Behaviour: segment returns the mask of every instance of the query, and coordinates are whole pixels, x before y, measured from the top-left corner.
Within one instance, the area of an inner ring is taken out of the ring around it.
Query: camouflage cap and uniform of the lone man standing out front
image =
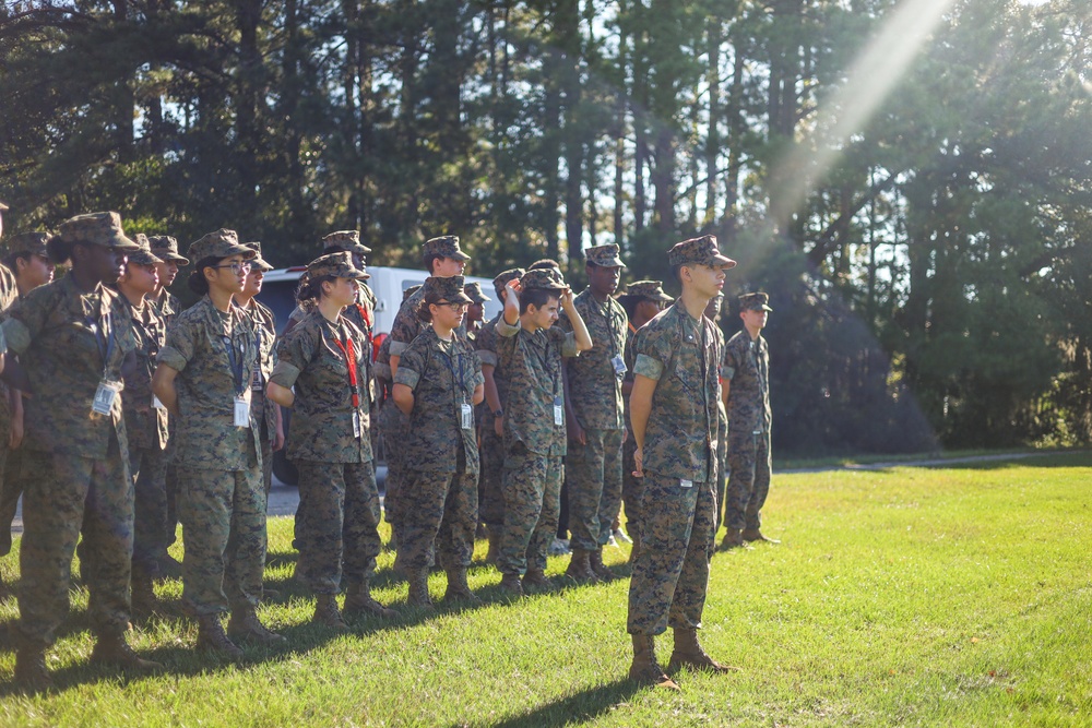
[[[698,254],[688,248],[695,242],[679,243],[682,254]],[[673,265],[679,262],[677,248]],[[656,389],[642,449],[641,548],[630,581],[627,630],[654,636],[668,624],[701,626],[716,517],[721,351],[713,323],[695,320],[681,301],[638,331],[633,350],[634,373],[654,380]]]

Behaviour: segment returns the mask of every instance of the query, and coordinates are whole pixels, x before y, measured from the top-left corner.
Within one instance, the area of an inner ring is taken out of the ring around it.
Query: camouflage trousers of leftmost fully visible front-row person
[[[69,608],[69,580],[83,534],[81,571],[97,634],[129,625],[129,569],[133,552],[133,481],[128,458],[111,435],[103,460],[67,453],[23,453],[23,545],[19,565],[19,640],[52,644]]]

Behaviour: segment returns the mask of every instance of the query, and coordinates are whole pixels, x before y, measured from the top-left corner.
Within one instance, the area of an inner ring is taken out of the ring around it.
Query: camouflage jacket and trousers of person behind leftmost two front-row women
[[[152,372],[167,324],[147,301],[139,308],[130,305],[130,314],[136,361],[126,372],[121,402],[129,435],[129,467],[135,480],[133,572],[153,576],[158,574],[159,560],[167,553],[167,410],[153,405],[152,394]]]

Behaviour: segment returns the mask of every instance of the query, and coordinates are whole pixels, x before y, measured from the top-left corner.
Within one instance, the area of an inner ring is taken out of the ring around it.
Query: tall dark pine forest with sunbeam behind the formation
[[[713,234],[725,331],[771,294],[776,451],[1087,444],[1090,38],[1087,0],[3,0],[0,199],[578,286]]]

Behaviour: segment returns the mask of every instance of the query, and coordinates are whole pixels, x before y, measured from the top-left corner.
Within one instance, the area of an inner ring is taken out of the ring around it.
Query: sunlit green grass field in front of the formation
[[[78,590],[49,657],[57,693],[15,692],[14,656],[0,654],[0,724],[1088,726],[1090,484],[1088,454],[775,476],[764,530],[783,542],[713,559],[702,640],[741,671],[685,672],[679,694],[625,679],[628,581],[510,605],[499,575],[476,568],[485,607],[426,614],[405,609],[383,554],[377,596],[402,617],[343,636],[311,626],[278,518],[266,576],[282,598],[261,614],[289,646],[222,664],[190,648],[191,623],[153,621],[133,642],[168,672],[126,682],[86,666]],[[558,583],[566,559],[550,563]],[[624,560],[608,549],[619,573]],[[13,577],[12,558],[0,569]],[[14,619],[13,604],[0,609]],[[658,647],[666,661],[669,636]]]

